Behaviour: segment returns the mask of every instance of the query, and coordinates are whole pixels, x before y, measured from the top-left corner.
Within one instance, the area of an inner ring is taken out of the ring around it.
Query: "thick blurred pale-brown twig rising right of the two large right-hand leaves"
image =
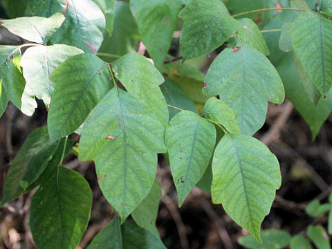
[[[286,124],[292,111],[293,111],[293,104],[290,101],[286,100],[286,104],[284,105],[284,111],[282,111],[282,113],[274,122],[273,126],[270,127],[268,132],[266,132],[264,136],[261,137],[261,142],[264,142],[265,145],[269,145],[270,142],[278,138],[280,130]]]

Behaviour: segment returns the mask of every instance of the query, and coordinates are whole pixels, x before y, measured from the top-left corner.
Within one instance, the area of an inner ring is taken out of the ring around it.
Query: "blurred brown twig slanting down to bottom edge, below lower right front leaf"
[[[218,230],[219,236],[221,237],[221,241],[223,241],[225,249],[232,249],[234,247],[232,244],[232,240],[230,239],[230,235],[228,234],[227,230],[223,227],[218,214],[216,214],[213,208],[211,208],[210,203],[208,203],[208,201],[206,201],[204,197],[201,198],[200,203],[203,210],[206,212],[206,214],[208,214],[211,221],[216,226],[216,230]]]

